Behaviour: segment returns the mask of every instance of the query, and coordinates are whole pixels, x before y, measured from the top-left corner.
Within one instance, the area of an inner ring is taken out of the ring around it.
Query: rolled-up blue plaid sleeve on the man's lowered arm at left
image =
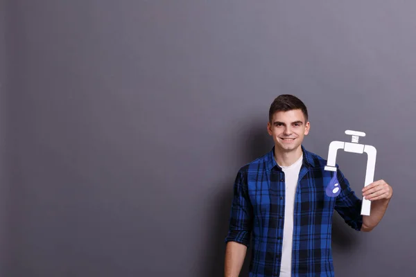
[[[252,231],[253,211],[248,195],[246,174],[247,172],[240,170],[234,181],[229,230],[225,242],[239,242],[248,247]]]

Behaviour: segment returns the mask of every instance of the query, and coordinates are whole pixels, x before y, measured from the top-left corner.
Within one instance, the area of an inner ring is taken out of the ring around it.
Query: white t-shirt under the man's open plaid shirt
[[[302,167],[303,154],[291,166],[280,166],[285,176],[286,202],[284,207],[283,248],[281,251],[280,276],[291,277],[292,270],[292,242],[293,242],[293,208],[297,179]]]

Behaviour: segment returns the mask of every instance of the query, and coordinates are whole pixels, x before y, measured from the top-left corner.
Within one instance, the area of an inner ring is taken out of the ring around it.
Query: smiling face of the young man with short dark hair
[[[277,111],[272,122],[267,123],[270,136],[275,141],[275,148],[283,152],[297,151],[302,145],[304,136],[309,133],[309,122],[305,122],[300,109]]]

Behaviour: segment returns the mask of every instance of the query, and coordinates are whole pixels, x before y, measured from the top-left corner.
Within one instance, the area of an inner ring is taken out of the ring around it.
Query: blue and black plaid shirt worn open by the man
[[[272,148],[265,156],[243,166],[234,182],[229,231],[225,242],[249,247],[252,235],[250,276],[279,276],[283,242],[284,172]],[[302,146],[303,163],[293,211],[292,276],[333,276],[331,229],[333,210],[349,226],[361,230],[361,199],[337,167],[340,194],[329,197],[325,188],[333,172],[327,161]]]

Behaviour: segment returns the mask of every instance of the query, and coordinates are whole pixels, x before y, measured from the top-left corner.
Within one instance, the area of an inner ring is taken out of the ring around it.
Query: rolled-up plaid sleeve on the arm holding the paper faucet
[[[363,215],[361,215],[361,204],[363,201],[356,197],[354,191],[349,187],[348,180],[338,169],[338,166],[337,179],[340,182],[341,193],[336,198],[335,210],[352,229],[360,231],[363,225]]]

